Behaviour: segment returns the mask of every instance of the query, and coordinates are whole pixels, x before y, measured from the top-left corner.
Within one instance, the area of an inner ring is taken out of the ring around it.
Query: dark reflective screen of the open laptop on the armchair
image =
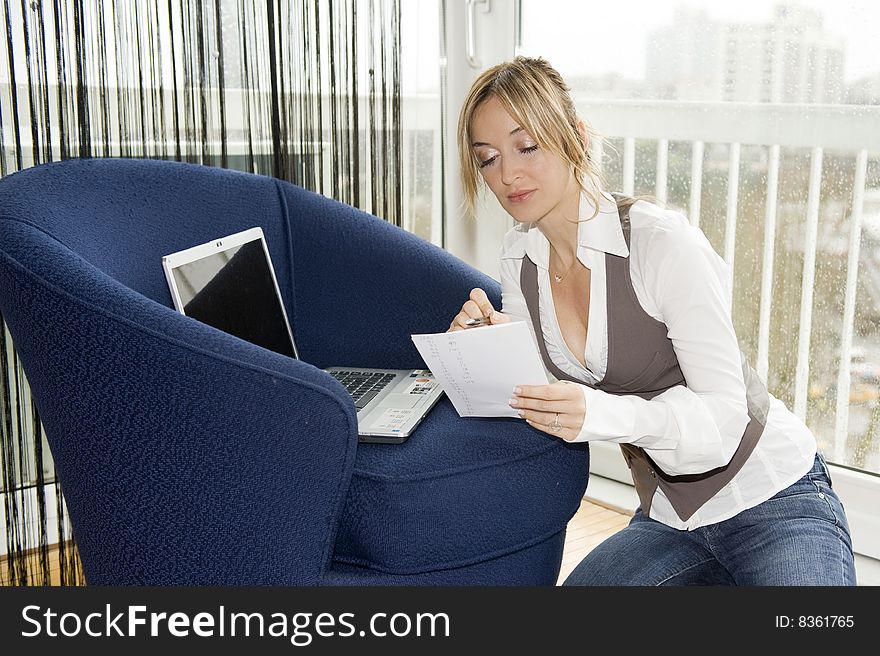
[[[185,315],[264,348],[297,357],[265,242],[227,238],[167,263]],[[207,246],[207,245],[206,245]]]

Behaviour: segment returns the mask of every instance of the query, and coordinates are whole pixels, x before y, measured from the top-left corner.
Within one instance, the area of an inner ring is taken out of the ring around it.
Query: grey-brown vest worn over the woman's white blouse
[[[615,198],[623,236],[629,248],[629,208],[634,200],[617,194]],[[634,394],[643,399],[652,399],[671,387],[686,385],[672,341],[667,336],[666,324],[645,312],[636,297],[630,278],[629,257],[606,253],[605,267],[608,362],[605,377],[593,387],[609,394]],[[528,255],[523,256],[520,287],[547,369],[559,380],[588,384],[569,376],[550,360],[538,310],[538,269]],[[644,449],[632,444],[620,445],[645,514],[650,511],[651,500],[659,486],[676,514],[686,521],[742,469],[764,431],[770,405],[766,387],[749,367],[744,355],[742,367],[749,423],[736,452],[726,465],[699,474],[671,476],[661,470]]]

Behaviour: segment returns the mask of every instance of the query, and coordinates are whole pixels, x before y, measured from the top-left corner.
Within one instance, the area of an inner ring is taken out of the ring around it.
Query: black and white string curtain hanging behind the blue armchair
[[[196,162],[401,225],[400,0],[2,0],[0,25],[0,175],[73,157]],[[83,584],[0,329],[0,582]]]

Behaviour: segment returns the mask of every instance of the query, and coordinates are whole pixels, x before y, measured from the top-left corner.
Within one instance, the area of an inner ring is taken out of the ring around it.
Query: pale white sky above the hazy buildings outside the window
[[[617,72],[644,79],[646,35],[672,24],[677,7],[704,9],[721,22],[767,23],[772,0],[523,0],[523,45],[563,75]],[[789,0],[823,15],[825,30],[847,41],[846,82],[880,72],[880,2]],[[620,35],[626,35],[621,42]]]

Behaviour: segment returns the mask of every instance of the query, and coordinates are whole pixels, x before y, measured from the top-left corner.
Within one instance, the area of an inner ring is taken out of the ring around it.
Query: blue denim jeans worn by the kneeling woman
[[[855,585],[843,505],[822,456],[803,478],[728,520],[682,531],[636,511],[564,585]]]

